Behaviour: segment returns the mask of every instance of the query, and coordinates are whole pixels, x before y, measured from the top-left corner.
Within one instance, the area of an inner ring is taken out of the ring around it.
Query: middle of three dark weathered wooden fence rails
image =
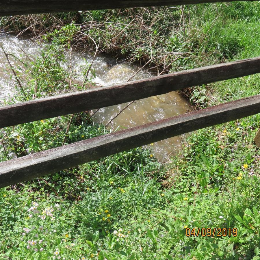
[[[260,73],[260,57],[0,107],[0,128],[73,114],[174,90]]]

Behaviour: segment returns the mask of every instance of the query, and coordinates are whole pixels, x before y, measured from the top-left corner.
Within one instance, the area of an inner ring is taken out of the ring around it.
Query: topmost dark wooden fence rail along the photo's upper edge
[[[0,16],[231,1],[232,0],[1,0]]]

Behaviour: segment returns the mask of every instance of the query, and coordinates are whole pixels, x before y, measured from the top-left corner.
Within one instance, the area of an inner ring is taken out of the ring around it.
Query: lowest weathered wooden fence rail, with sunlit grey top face
[[[0,188],[134,147],[260,113],[260,95],[0,163]]]

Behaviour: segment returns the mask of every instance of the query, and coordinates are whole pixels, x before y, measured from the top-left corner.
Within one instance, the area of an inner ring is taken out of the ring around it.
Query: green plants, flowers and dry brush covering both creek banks
[[[22,88],[17,81],[15,96],[5,102],[86,88],[89,64],[83,85],[61,66],[65,50],[83,40],[95,45],[82,38],[84,28],[95,42],[102,37],[101,49],[142,64],[156,57],[153,66],[166,73],[259,56],[259,12],[258,2],[234,2],[29,16],[35,36],[44,33],[49,44],[34,62],[15,68]],[[136,22],[140,18],[145,22]],[[27,19],[6,17],[1,25],[24,30]],[[87,27],[90,21],[95,27]],[[147,30],[143,37],[140,29]],[[259,82],[250,75],[185,93],[204,108],[259,94]],[[0,189],[0,258],[260,259],[260,152],[253,142],[259,126],[258,114],[201,129],[164,164],[135,148]],[[7,127],[0,132],[0,161],[107,132],[88,112]],[[194,227],[237,228],[237,236],[187,237]]]

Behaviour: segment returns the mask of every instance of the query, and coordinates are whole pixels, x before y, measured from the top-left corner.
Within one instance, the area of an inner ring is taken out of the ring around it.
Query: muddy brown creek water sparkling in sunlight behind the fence
[[[24,56],[23,51],[33,59],[40,53],[41,46],[30,39],[17,38],[10,34],[0,34],[0,44],[3,48],[12,53],[16,57]],[[23,50],[23,51],[22,51]],[[69,54],[66,54],[69,59]],[[9,56],[10,62],[16,66],[22,66],[22,63]],[[92,55],[89,53],[73,52],[71,55],[72,67],[78,72],[77,80],[83,81],[83,76],[80,76],[81,65],[86,64],[86,59],[89,63],[92,61]],[[66,64],[64,64],[66,67]],[[111,56],[97,55],[92,65],[96,77],[93,79],[98,86],[108,86],[115,83],[122,83],[133,75],[131,80],[144,79],[155,75],[133,64],[120,62]],[[140,70],[140,71],[139,71]],[[139,72],[138,72],[139,71]],[[138,73],[137,73],[138,72]],[[10,70],[6,57],[0,48],[0,101],[8,94],[12,95],[14,79],[10,79]],[[126,93],[127,94],[127,93]],[[93,121],[106,125],[118,112],[124,108],[127,103],[105,107],[93,116]],[[190,110],[190,105],[186,99],[178,94],[178,92],[170,92],[163,95],[153,96],[146,99],[135,101],[119,116],[117,116],[108,126],[111,131],[116,129],[125,129],[134,127],[149,122],[169,118],[172,116],[184,114]],[[169,138],[147,145],[151,149],[154,157],[163,161],[175,155],[181,149],[181,144],[185,142],[185,135]]]

